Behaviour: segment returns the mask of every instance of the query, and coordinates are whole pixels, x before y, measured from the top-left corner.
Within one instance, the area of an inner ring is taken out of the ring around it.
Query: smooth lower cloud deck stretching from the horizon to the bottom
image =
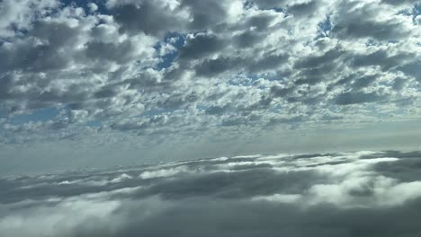
[[[0,233],[348,236],[421,233],[421,153],[221,157],[0,180]]]

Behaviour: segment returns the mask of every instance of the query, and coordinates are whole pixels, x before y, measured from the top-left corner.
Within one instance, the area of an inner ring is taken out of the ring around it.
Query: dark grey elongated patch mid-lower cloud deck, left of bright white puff
[[[187,175],[176,180],[164,180],[139,195],[160,194],[163,198],[210,197],[246,198],[258,195],[270,195],[280,191],[300,193],[318,180],[323,180],[311,171],[291,171],[286,174],[273,172],[271,169],[253,166],[250,170],[234,168],[236,172],[212,172],[210,174]],[[300,182],[295,182],[300,180]]]

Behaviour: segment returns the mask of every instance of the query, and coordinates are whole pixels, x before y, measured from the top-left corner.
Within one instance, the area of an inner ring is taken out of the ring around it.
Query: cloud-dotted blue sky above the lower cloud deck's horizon
[[[0,173],[421,148],[421,1],[3,0]]]

